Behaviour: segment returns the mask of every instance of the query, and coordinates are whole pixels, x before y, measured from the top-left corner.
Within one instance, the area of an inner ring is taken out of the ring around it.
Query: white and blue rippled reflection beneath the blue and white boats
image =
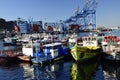
[[[20,64],[23,67],[24,78],[27,80],[55,80],[57,76],[59,76],[60,71],[63,70],[63,63],[56,63],[41,66],[39,64]]]

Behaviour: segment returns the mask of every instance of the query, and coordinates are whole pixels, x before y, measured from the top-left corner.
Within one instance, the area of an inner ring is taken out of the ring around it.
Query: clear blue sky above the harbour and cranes
[[[83,9],[86,0],[0,0],[0,18],[6,21],[18,17],[34,21],[57,22],[73,16],[76,8]],[[96,8],[98,27],[120,26],[120,0],[98,0]]]

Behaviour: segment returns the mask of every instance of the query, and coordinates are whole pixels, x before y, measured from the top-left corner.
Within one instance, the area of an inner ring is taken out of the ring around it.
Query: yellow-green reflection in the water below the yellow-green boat
[[[93,80],[98,67],[98,62],[90,64],[73,63],[71,67],[72,80]]]

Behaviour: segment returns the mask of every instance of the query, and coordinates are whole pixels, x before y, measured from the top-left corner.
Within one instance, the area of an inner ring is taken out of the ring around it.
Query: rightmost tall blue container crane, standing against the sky
[[[85,29],[96,29],[96,7],[98,0],[88,0],[83,9]]]

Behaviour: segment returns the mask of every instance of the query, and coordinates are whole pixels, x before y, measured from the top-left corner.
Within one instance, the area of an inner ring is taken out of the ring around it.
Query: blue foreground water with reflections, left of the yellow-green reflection
[[[39,65],[19,63],[0,66],[0,80],[70,80],[71,62]]]

